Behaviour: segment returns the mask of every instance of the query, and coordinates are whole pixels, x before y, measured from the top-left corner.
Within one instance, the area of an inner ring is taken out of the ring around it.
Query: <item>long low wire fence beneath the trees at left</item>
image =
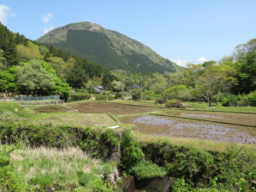
[[[58,101],[60,96],[20,96],[9,97],[9,102],[49,102]],[[0,98],[0,102],[7,102],[5,97]]]

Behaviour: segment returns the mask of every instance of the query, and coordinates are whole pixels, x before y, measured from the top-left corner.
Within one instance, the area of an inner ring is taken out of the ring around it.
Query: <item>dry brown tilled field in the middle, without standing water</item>
[[[129,106],[110,102],[77,102],[68,104],[68,108],[74,108],[79,112],[85,113],[112,113],[112,114],[129,114],[129,113],[146,113],[161,110],[161,108],[148,108],[141,106]]]

